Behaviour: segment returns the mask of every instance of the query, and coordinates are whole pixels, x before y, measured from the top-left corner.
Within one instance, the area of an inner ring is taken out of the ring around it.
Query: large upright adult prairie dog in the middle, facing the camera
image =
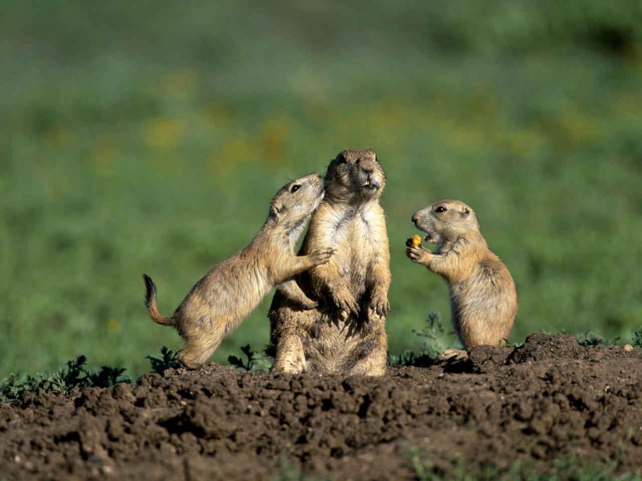
[[[318,307],[304,310],[275,294],[268,314],[275,371],[385,373],[390,249],[379,205],[384,186],[373,151],[343,151],[329,165],[325,198],[301,252],[330,248],[334,255],[295,277]]]

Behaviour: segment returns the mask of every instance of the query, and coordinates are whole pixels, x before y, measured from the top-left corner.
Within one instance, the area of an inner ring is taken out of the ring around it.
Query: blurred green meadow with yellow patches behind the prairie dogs
[[[639,1],[0,3],[0,378],[148,369],[169,315],[286,181],[376,150],[390,351],[445,283],[415,210],[477,212],[520,298],[511,335],[642,326]],[[213,359],[268,340],[271,295]],[[454,342],[453,339],[451,341]]]

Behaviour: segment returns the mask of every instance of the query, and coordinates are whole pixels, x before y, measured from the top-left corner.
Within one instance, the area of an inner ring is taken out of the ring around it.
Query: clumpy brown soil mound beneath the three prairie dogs
[[[642,459],[642,351],[534,334],[459,366],[381,378],[168,369],[73,399],[0,408],[0,479],[266,480],[284,462],[341,480],[413,479],[437,466]]]

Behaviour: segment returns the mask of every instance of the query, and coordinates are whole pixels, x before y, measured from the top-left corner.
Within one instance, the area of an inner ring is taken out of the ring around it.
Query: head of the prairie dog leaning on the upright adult
[[[280,227],[280,231],[299,237],[306,221],[324,197],[321,174],[309,174],[286,183],[272,198],[269,217]]]

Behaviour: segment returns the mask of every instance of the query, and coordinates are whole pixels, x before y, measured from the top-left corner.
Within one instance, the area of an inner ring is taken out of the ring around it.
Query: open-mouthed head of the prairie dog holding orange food
[[[417,210],[412,221],[419,230],[426,232],[426,242],[444,244],[457,237],[471,234],[480,235],[477,217],[470,207],[456,200],[433,202]]]

